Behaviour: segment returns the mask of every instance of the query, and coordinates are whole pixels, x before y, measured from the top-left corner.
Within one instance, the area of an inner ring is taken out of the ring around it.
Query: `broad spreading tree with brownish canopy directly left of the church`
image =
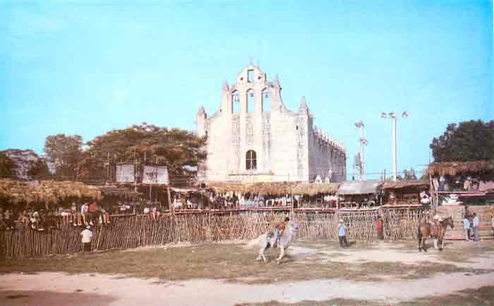
[[[188,174],[193,172],[188,167],[205,159],[204,144],[203,137],[187,130],[143,123],[90,140],[82,164],[88,173],[101,173],[107,162],[133,163],[136,158],[140,163],[167,166],[171,174]]]

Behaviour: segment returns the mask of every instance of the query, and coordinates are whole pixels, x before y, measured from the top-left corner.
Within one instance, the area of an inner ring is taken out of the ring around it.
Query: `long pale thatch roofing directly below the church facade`
[[[299,183],[299,182],[210,182],[208,188],[217,193],[225,192],[253,192],[260,195],[317,195],[318,193],[335,192],[336,183]]]

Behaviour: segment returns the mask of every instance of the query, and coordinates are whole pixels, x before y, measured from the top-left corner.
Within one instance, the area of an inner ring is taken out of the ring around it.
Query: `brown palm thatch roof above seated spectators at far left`
[[[4,198],[8,202],[54,204],[71,197],[88,197],[100,200],[101,192],[94,186],[71,181],[21,181],[8,178],[0,180],[0,198]]]

